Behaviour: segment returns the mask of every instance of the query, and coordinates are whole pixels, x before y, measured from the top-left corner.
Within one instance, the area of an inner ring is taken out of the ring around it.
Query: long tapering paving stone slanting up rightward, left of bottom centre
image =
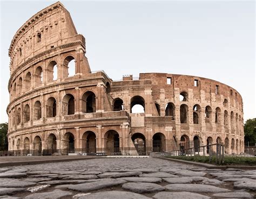
[[[68,189],[76,190],[76,191],[93,191],[93,190],[117,186],[125,182],[126,181],[124,180],[106,179],[98,182],[87,182],[82,184],[70,185]]]

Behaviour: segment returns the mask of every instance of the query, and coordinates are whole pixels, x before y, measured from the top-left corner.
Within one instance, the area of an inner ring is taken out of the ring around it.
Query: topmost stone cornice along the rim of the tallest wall
[[[17,39],[20,35],[22,35],[23,32],[26,31],[26,29],[28,29],[30,27],[31,24],[35,23],[37,20],[41,19],[41,17],[43,15],[45,15],[46,13],[57,9],[57,8],[64,8],[64,5],[60,2],[56,2],[48,7],[46,7],[45,9],[39,11],[36,13],[36,15],[33,15],[29,20],[26,21],[26,23],[24,23],[21,28],[19,28],[19,30],[15,33],[14,38],[12,38],[10,47],[9,47],[9,57],[11,57],[12,54],[12,50],[13,47],[15,46],[15,43],[17,42]]]

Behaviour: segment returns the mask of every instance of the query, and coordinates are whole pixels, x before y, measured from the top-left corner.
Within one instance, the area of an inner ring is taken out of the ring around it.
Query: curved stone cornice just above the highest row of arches
[[[11,86],[11,81],[12,79],[14,78],[15,74],[18,72],[18,70],[21,70],[22,67],[24,67],[25,65],[31,63],[32,61],[38,59],[39,57],[42,57],[42,56],[45,56],[45,54],[49,54],[51,52],[54,52],[54,51],[57,51],[57,50],[60,50],[60,49],[65,49],[67,47],[72,47],[72,46],[76,46],[76,45],[82,45],[85,49],[85,45],[83,44],[83,42],[81,42],[80,40],[79,41],[76,41],[76,42],[71,42],[71,43],[67,43],[67,44],[63,44],[63,45],[60,45],[60,46],[57,46],[57,47],[53,47],[52,49],[49,49],[49,50],[46,50],[44,52],[41,52],[39,54],[36,54],[36,56],[32,57],[31,59],[28,59],[26,61],[24,61],[24,63],[22,63],[21,65],[19,65],[14,71],[12,71],[11,73],[11,77],[9,79],[9,83],[8,83],[8,90],[10,92],[10,86]]]

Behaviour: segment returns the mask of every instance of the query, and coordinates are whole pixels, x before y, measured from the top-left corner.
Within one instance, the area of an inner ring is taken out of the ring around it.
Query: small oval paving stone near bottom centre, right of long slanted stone
[[[123,184],[122,188],[138,194],[153,193],[165,190],[165,188],[159,184],[147,182],[128,182]]]

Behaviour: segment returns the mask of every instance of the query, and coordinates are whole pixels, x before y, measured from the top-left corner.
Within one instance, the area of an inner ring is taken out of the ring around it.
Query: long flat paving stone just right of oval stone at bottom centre
[[[169,191],[192,191],[192,192],[205,192],[205,193],[221,193],[228,192],[230,190],[214,187],[207,184],[168,184],[165,188]]]

